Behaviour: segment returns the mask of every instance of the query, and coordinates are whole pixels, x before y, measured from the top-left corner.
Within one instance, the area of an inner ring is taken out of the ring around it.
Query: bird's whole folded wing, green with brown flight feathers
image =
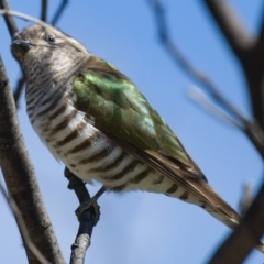
[[[91,56],[73,84],[75,107],[113,142],[226,216],[237,218],[207,184],[178,138],[124,75]]]

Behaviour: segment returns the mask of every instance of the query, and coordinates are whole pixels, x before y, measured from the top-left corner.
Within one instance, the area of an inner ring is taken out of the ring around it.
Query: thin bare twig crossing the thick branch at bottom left
[[[20,212],[14,199],[12,198],[12,196],[7,195],[1,180],[0,180],[0,193],[2,194],[2,197],[4,198],[4,200],[7,201],[7,204],[9,205],[9,209],[11,210],[11,212],[13,213],[13,216],[16,219],[20,232],[22,234],[23,238],[23,242],[25,243],[26,248],[32,252],[32,254],[34,254],[34,256],[36,257],[36,260],[42,263],[42,264],[50,264],[50,262],[46,260],[46,257],[40,252],[40,250],[34,245],[34,243],[31,241],[26,226],[24,223],[24,219],[22,213]]]

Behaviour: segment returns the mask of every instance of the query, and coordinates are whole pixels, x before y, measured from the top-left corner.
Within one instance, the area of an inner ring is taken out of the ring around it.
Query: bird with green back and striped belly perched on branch
[[[52,26],[15,33],[30,122],[55,158],[84,182],[194,204],[231,229],[240,222],[165,120],[114,66]],[[264,252],[262,242],[257,249]]]

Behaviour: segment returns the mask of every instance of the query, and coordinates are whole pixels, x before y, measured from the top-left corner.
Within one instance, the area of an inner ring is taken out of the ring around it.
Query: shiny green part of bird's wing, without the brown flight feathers
[[[76,107],[95,119],[95,125],[141,150],[158,152],[194,168],[177,136],[140,90],[106,62],[90,57],[74,79]]]

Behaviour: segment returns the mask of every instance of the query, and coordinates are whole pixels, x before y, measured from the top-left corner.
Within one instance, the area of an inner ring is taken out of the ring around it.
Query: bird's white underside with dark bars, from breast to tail
[[[141,189],[176,197],[200,206],[220,221],[232,226],[229,218],[205,200],[112,143],[88,122],[84,112],[72,106],[67,91],[59,99],[48,101],[44,98],[43,101],[46,102],[37,109],[30,103],[28,106],[32,125],[53,155],[81,179],[88,183],[98,180],[114,191]],[[235,224],[233,222],[233,227]]]

